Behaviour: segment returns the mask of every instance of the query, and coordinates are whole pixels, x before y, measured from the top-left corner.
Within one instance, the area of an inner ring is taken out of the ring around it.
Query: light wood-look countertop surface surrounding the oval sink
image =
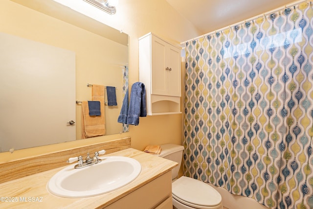
[[[63,198],[49,193],[46,185],[63,167],[0,184],[1,209],[95,209],[106,207],[137,188],[168,172],[178,163],[128,148],[107,156],[125,156],[141,164],[140,175],[129,185],[109,193],[86,198]],[[66,161],[67,159],[65,159]],[[72,163],[74,166],[75,163]],[[99,174],[101,177],[101,173]],[[82,181],[84,181],[82,179]]]

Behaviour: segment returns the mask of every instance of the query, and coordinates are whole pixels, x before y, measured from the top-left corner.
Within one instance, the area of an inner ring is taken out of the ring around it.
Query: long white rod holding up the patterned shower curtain
[[[269,14],[271,14],[271,13],[277,12],[277,11],[282,10],[282,9],[285,9],[285,8],[287,8],[287,7],[294,6],[294,5],[298,4],[298,3],[302,3],[302,2],[305,2],[305,1],[307,1],[308,3],[309,3],[309,2],[312,2],[312,0],[297,0],[297,1],[294,1],[294,2],[292,2],[292,3],[285,4],[285,6],[278,7],[278,8],[276,8],[276,9],[273,9],[273,10],[270,10],[270,11],[265,12],[265,13],[263,13],[263,14],[254,16],[254,17],[249,18],[249,19],[246,19],[246,20],[241,21],[241,22],[239,22],[239,23],[230,24],[230,25],[228,25],[228,26],[225,26],[225,27],[220,28],[220,29],[218,29],[218,30],[211,31],[211,32],[209,32],[209,33],[203,34],[203,35],[198,36],[198,37],[196,37],[196,38],[189,39],[189,40],[184,41],[184,42],[180,42],[180,45],[184,45],[186,42],[194,41],[194,40],[200,39],[200,38],[202,38],[202,37],[204,37],[204,36],[211,35],[211,34],[213,34],[213,33],[222,31],[222,30],[224,30],[224,29],[226,29],[226,28],[229,28],[229,27],[232,27],[232,26],[236,26],[236,25],[238,25],[238,24],[246,23],[246,22],[255,20],[255,19],[257,19],[257,18],[260,18],[260,17],[264,17],[264,16],[269,15]]]

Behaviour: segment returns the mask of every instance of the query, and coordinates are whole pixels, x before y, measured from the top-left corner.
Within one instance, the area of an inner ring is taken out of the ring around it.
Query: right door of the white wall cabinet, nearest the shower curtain
[[[180,51],[178,48],[169,45],[166,53],[166,67],[168,74],[168,91],[169,96],[181,96],[181,74],[180,74]]]

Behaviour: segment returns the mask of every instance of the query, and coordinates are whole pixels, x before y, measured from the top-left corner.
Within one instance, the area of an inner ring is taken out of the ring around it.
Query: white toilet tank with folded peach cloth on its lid
[[[184,147],[177,144],[162,144],[159,157],[178,163],[178,166],[172,169],[172,180],[177,178]]]

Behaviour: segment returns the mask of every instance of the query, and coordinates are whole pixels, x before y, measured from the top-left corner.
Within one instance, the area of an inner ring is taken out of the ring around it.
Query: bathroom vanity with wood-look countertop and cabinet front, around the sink
[[[65,166],[58,167],[0,184],[0,208],[172,208],[171,170],[178,163],[133,148],[117,151],[107,156],[133,158],[141,164],[141,173],[130,184],[109,193],[86,198],[63,198],[49,193],[46,188],[51,177]],[[99,178],[101,178],[101,173],[99,173]],[[84,181],[84,179],[81,181]]]

